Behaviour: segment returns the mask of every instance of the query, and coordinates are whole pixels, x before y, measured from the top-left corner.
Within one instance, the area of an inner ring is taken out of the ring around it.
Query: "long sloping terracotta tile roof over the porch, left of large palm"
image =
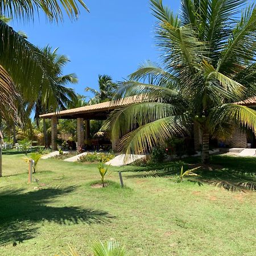
[[[106,101],[99,104],[82,106],[80,108],[75,109],[67,109],[62,110],[60,112],[53,112],[40,115],[41,118],[51,118],[51,117],[60,117],[65,115],[73,115],[73,114],[82,114],[82,113],[90,113],[90,112],[103,112],[108,110],[113,110],[120,106],[130,105],[132,103],[142,102],[142,96],[130,96],[126,98],[122,98],[120,100],[115,101]]]

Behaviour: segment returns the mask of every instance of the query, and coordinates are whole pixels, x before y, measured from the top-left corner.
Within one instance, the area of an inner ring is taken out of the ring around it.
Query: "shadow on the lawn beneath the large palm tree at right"
[[[143,177],[174,177],[180,174],[181,166],[184,171],[201,166],[199,158],[188,158],[183,161],[135,168],[136,174],[127,175],[127,178]],[[196,171],[200,176],[189,177],[188,181],[202,185],[213,184],[229,191],[250,189],[256,190],[255,180],[256,158],[237,158],[232,156],[212,156],[210,164],[202,166]]]

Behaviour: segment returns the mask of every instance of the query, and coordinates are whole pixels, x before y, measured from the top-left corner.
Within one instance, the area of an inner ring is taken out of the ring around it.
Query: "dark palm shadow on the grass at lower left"
[[[60,225],[109,222],[108,212],[80,207],[51,207],[53,199],[72,192],[74,187],[47,188],[23,193],[23,189],[0,193],[0,245],[22,242],[34,238],[38,222],[55,222]]]

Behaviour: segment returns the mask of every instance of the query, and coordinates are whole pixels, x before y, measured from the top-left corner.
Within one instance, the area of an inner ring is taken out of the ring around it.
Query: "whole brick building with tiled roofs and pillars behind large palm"
[[[81,108],[63,110],[58,113],[43,114],[40,115],[40,117],[51,118],[53,150],[57,149],[57,122],[59,118],[77,120],[77,144],[82,146],[84,145],[85,140],[89,139],[90,119],[104,120],[108,118],[108,115],[113,110],[125,105],[133,104],[135,102],[141,102],[142,100],[142,97],[132,96],[123,98],[121,100],[108,101],[100,104],[83,106]],[[237,102],[236,104],[255,107],[256,97]],[[195,150],[200,150],[202,137],[199,126],[195,125],[193,130]],[[117,150],[119,145],[119,134],[115,134],[113,138],[111,138],[111,142],[113,150]],[[246,148],[248,143],[250,143],[252,147],[256,147],[255,135],[252,134],[249,138],[248,132],[239,129],[238,127],[234,129],[232,136],[227,139],[225,143],[228,144],[229,147]]]

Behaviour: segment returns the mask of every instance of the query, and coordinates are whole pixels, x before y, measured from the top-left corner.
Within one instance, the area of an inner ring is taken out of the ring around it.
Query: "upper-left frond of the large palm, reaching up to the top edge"
[[[191,24],[180,26],[180,23],[173,22],[177,18],[170,18],[172,14],[163,7],[162,1],[151,1],[151,5],[158,18],[156,42],[164,52],[162,57],[167,69],[176,69],[177,72],[188,69],[194,73],[196,63],[207,54],[206,44],[200,42]]]

